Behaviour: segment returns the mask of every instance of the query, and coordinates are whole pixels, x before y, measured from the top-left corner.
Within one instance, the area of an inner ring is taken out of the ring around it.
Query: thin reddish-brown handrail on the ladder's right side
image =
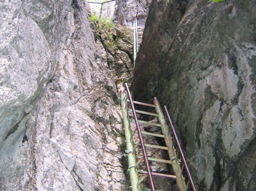
[[[175,142],[176,142],[176,144],[177,144],[178,150],[179,150],[180,155],[181,155],[181,160],[182,160],[182,162],[183,162],[184,168],[185,168],[186,173],[187,173],[187,175],[188,175],[189,184],[191,185],[192,190],[193,190],[193,191],[196,191],[196,187],[195,187],[195,185],[194,185],[192,176],[191,176],[191,174],[190,174],[190,172],[189,172],[188,164],[187,164],[187,162],[186,162],[186,159],[185,159],[185,157],[184,157],[183,151],[182,151],[182,149],[181,149],[180,142],[179,142],[179,140],[178,140],[178,136],[177,136],[177,134],[176,134],[175,128],[173,127],[173,123],[171,122],[171,117],[170,117],[170,114],[169,114],[169,112],[168,112],[168,110],[167,110],[167,106],[164,106],[164,108],[165,108],[165,113],[167,114],[168,122],[169,122],[170,125],[171,125],[171,131],[173,132],[173,136],[174,136],[174,138],[175,138]]]

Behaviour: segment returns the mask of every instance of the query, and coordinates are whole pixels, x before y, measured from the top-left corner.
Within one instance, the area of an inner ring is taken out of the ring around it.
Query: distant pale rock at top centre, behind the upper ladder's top
[[[114,21],[120,25],[133,26],[137,17],[138,25],[145,25],[151,3],[152,0],[116,0]]]

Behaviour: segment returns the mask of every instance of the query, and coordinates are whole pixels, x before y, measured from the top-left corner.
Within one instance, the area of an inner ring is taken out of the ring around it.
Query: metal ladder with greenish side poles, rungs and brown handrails
[[[141,103],[138,101],[133,101],[131,98],[131,93],[128,88],[128,85],[125,83],[125,90],[120,92],[121,97],[121,106],[122,106],[122,114],[123,114],[123,126],[125,129],[125,139],[126,139],[126,157],[128,158],[128,172],[130,174],[130,190],[132,191],[155,191],[155,185],[153,181],[153,176],[160,176],[170,179],[175,179],[178,189],[180,191],[192,190],[196,191],[196,187],[194,182],[192,181],[191,174],[188,169],[188,165],[184,158],[183,151],[181,150],[180,142],[178,141],[178,137],[176,136],[175,129],[170,119],[170,115],[167,111],[167,107],[165,106],[165,114],[167,116],[168,123],[170,124],[170,128],[167,125],[166,119],[163,115],[162,109],[160,107],[159,101],[157,98],[154,98],[154,104],[147,104]],[[130,106],[128,106],[130,103]],[[147,111],[139,111],[136,110],[134,104],[139,104],[142,106],[154,107],[156,113],[147,112]],[[129,112],[133,112],[133,117],[130,117]],[[144,114],[144,115],[152,115],[158,117],[159,123],[151,123],[146,122],[143,120],[138,120],[137,114]],[[136,125],[136,129],[131,129],[131,121],[134,121]],[[141,131],[139,127],[139,123],[146,123],[147,125],[154,125],[162,130],[162,134],[157,133],[149,133],[147,131]],[[171,132],[172,136],[171,137]],[[139,142],[133,141],[134,133],[138,133]],[[166,147],[164,146],[157,146],[152,144],[145,144],[142,138],[142,134],[146,136],[155,136],[158,138],[163,138],[165,140]],[[176,145],[174,144],[176,143]],[[143,155],[136,155],[135,150],[138,146],[141,146],[142,154]],[[155,149],[163,149],[168,151],[169,160],[165,160],[163,158],[152,158],[147,156],[146,147],[152,147]],[[178,149],[178,154],[176,153],[176,149]],[[180,157],[180,158],[179,158]],[[139,170],[139,164],[144,161],[146,166],[146,171]],[[172,174],[163,174],[163,173],[154,173],[151,171],[149,161],[159,162],[159,163],[168,163],[171,165],[173,169]],[[182,163],[182,165],[181,165]],[[186,172],[183,176],[183,172]],[[143,174],[143,176],[139,179],[139,174]],[[141,183],[148,177],[149,184],[151,189],[141,187]],[[184,178],[186,177],[186,178]],[[187,182],[187,183],[186,183]]]

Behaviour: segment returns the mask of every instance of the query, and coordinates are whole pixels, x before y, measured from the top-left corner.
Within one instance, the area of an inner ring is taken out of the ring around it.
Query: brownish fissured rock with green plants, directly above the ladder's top
[[[94,29],[94,38],[100,45],[97,50],[113,72],[118,87],[122,87],[123,82],[131,83],[134,69],[133,30],[101,20],[92,21],[91,27]],[[139,42],[141,39],[142,31],[138,36]]]

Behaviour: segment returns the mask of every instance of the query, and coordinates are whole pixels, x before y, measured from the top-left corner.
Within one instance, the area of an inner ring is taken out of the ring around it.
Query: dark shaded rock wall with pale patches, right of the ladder
[[[255,1],[154,1],[134,99],[166,104],[198,190],[256,189]]]

